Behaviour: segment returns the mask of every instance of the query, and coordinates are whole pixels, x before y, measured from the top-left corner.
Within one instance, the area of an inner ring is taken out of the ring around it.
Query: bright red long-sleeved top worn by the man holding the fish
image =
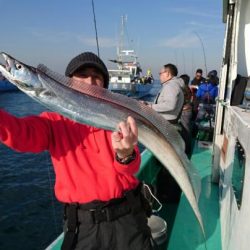
[[[0,140],[20,152],[48,150],[61,202],[85,203],[119,198],[135,188],[140,153],[128,165],[114,159],[111,131],[74,122],[53,112],[16,118],[0,110]]]

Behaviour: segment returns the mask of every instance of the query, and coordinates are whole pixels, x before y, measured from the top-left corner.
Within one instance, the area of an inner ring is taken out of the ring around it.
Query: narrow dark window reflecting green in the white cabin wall
[[[245,176],[246,155],[240,142],[236,140],[232,173],[232,186],[238,209],[241,207],[243,184]]]

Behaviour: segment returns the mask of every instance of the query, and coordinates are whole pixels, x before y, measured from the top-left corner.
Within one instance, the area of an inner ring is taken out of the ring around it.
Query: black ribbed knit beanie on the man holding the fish
[[[72,77],[73,74],[82,68],[93,67],[98,69],[104,78],[104,88],[108,88],[109,85],[109,73],[104,62],[92,52],[84,52],[74,57],[68,64],[65,75]]]

